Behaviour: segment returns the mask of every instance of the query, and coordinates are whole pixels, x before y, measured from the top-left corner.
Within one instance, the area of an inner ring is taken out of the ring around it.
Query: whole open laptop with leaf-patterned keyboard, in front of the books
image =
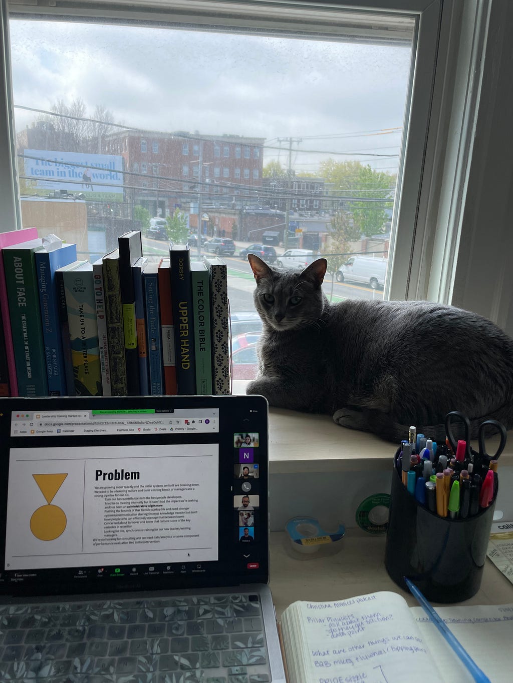
[[[0,444],[1,681],[285,681],[264,398],[2,398]]]

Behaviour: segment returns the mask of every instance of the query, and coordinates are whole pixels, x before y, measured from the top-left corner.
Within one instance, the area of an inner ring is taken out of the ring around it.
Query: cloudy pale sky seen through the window
[[[409,47],[29,20],[10,40],[15,106],[81,98],[131,127],[263,137],[264,164],[286,167],[292,137],[297,172],[326,158],[397,171]],[[37,117],[15,111],[18,130]]]

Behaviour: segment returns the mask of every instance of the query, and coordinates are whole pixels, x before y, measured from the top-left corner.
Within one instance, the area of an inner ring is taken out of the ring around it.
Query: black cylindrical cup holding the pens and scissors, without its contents
[[[475,516],[450,519],[430,512],[402,484],[395,454],[386,530],[385,567],[405,591],[404,576],[432,602],[461,602],[479,590],[495,499]]]

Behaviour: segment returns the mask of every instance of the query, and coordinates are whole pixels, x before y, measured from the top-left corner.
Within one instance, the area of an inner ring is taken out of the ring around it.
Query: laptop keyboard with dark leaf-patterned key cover
[[[0,605],[0,680],[267,683],[252,594]]]

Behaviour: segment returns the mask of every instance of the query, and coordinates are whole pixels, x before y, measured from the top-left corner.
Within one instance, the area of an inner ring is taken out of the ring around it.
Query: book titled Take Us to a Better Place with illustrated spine
[[[92,265],[64,271],[62,275],[68,307],[75,394],[102,395]]]

